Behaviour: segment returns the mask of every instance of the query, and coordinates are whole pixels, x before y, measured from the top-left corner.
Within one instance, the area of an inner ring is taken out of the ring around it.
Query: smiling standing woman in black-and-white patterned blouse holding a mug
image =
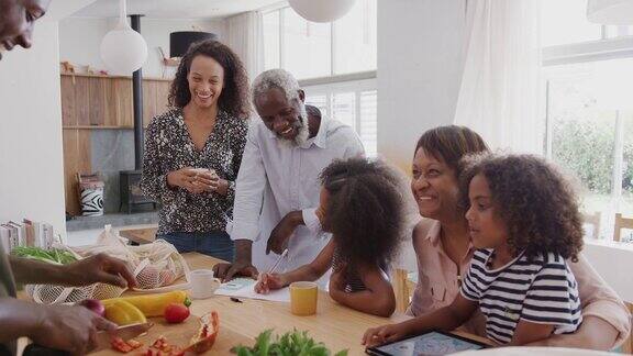
[[[160,202],[157,237],[179,252],[233,260],[225,232],[248,130],[248,79],[216,41],[193,44],[171,82],[173,108],[152,120],[143,192]]]

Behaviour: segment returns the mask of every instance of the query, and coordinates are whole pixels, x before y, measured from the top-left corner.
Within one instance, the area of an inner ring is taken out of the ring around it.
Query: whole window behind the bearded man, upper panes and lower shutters
[[[333,23],[313,23],[285,7],[264,13],[265,68],[300,80],[306,102],[356,130],[377,155],[377,0],[358,0]]]

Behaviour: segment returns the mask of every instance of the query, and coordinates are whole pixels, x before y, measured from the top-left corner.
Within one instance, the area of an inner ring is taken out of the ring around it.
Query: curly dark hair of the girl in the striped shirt
[[[578,260],[582,220],[570,181],[552,164],[532,155],[482,154],[464,159],[463,203],[468,186],[481,174],[490,187],[495,211],[508,226],[508,244],[528,258],[555,253]]]

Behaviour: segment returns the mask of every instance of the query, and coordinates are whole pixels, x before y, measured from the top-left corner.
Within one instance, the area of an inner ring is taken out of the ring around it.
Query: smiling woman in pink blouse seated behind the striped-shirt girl
[[[419,280],[409,313],[422,315],[451,304],[459,291],[462,276],[470,266],[474,247],[468,223],[459,207],[459,160],[488,151],[484,140],[460,126],[442,126],[425,132],[415,146],[411,190],[423,218],[413,231]],[[574,334],[553,335],[541,346],[610,349],[631,329],[630,314],[615,292],[580,256],[568,262],[578,281],[584,321]],[[485,336],[484,316],[476,312],[464,325]],[[366,343],[398,340],[408,334],[407,322],[367,331]]]

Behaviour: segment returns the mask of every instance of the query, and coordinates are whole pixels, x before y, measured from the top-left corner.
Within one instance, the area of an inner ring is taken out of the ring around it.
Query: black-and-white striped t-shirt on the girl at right
[[[462,283],[462,296],[479,303],[488,337],[507,344],[520,320],[554,325],[555,334],[576,331],[582,315],[574,274],[556,254],[531,260],[523,253],[506,266],[488,269],[492,249],[478,249]]]

